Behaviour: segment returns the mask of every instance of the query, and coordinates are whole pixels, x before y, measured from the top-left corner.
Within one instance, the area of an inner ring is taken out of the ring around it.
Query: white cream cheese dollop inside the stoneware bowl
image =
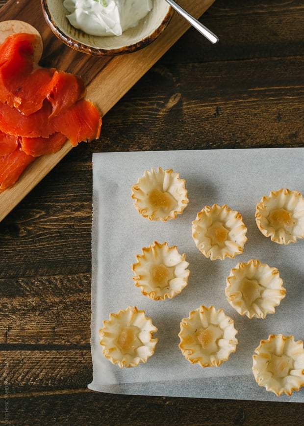
[[[70,24],[94,36],[121,35],[152,10],[152,0],[64,0]]]

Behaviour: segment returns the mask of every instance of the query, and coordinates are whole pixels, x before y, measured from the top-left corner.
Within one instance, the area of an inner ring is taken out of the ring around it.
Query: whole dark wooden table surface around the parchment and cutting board
[[[301,424],[297,403],[87,389],[92,153],[304,146],[303,1],[216,0],[202,21],[217,45],[187,31],[105,115],[101,139],[0,222],[1,424]]]

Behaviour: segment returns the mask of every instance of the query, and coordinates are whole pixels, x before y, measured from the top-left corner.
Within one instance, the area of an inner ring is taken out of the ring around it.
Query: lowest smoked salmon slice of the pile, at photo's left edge
[[[0,192],[13,186],[25,168],[35,157],[25,154],[18,147],[12,153],[0,157]]]

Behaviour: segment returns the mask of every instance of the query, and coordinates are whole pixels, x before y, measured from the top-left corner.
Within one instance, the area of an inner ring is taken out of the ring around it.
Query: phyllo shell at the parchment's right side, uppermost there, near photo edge
[[[301,192],[279,189],[256,205],[255,221],[265,237],[278,244],[304,238],[304,198]]]

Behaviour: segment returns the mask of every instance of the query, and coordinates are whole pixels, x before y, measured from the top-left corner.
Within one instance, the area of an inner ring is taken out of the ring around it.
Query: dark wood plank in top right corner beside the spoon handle
[[[206,44],[190,28],[160,61],[207,63],[303,55],[303,9],[301,0],[216,0],[201,21],[218,35],[219,43]]]

